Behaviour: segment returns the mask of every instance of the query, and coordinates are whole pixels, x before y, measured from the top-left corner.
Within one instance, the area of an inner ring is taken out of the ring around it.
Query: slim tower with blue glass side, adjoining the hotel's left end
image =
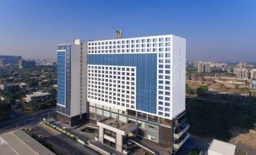
[[[70,126],[87,121],[86,48],[79,39],[57,46],[57,120]]]

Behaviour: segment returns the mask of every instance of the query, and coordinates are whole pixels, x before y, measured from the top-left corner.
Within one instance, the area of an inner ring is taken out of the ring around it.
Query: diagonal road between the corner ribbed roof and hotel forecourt
[[[72,139],[66,137],[65,135],[56,132],[54,129],[44,126],[42,123],[39,123],[37,126],[34,126],[36,132],[43,133],[49,143],[51,143],[55,150],[61,154],[72,154],[72,155],[100,155],[99,153],[91,150],[84,145],[73,141]]]

